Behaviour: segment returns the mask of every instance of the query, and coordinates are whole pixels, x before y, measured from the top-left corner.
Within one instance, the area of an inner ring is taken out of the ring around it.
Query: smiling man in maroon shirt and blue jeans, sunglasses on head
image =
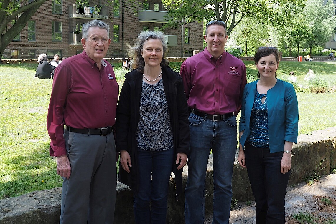
[[[208,22],[204,40],[207,47],[186,59],[180,72],[191,109],[185,223],[204,223],[205,176],[212,149],[212,223],[228,224],[237,150],[236,116],[246,84],[246,67],[241,60],[224,50],[227,41],[225,22]]]

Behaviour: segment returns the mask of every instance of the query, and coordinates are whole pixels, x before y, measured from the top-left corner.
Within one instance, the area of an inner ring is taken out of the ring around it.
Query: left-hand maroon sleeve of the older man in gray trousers
[[[50,156],[66,155],[64,133],[64,108],[71,88],[71,72],[65,66],[59,66],[54,75],[49,109],[47,130],[51,139]]]

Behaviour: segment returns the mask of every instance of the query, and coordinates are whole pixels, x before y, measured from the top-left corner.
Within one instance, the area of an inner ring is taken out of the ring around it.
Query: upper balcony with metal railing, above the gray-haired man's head
[[[83,18],[83,19],[107,19],[108,11],[104,6],[90,7],[90,6],[69,6],[70,18]]]

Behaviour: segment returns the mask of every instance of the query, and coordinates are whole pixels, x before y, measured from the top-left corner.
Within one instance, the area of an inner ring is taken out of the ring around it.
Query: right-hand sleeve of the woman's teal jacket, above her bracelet
[[[294,87],[287,88],[285,98],[285,141],[297,143],[299,107]]]

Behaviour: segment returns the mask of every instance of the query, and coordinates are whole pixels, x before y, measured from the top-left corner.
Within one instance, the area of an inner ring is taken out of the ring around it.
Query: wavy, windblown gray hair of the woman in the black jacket
[[[129,44],[127,46],[129,47],[128,55],[132,58],[134,58],[133,62],[133,68],[136,68],[138,71],[143,72],[145,62],[143,60],[143,57],[141,55],[143,43],[149,39],[159,39],[162,43],[162,61],[161,66],[168,66],[169,61],[165,59],[166,53],[168,52],[168,46],[166,43],[166,35],[162,32],[156,32],[156,31],[141,31],[140,34],[137,37],[137,41],[133,47],[131,47]]]

